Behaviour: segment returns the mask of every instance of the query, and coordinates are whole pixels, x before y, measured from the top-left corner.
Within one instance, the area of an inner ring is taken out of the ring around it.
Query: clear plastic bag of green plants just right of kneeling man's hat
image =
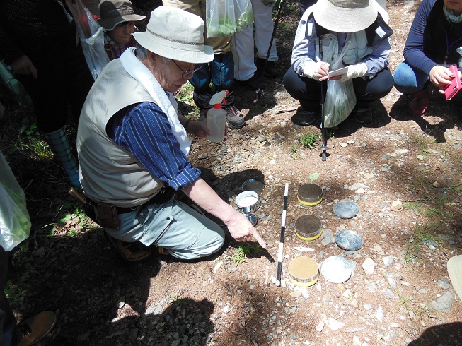
[[[233,36],[253,23],[250,0],[207,0],[207,37]]]

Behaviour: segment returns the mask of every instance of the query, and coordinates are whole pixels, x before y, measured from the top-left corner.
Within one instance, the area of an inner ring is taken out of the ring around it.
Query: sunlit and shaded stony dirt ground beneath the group
[[[387,2],[394,30],[392,72],[402,61],[419,2],[409,4]],[[215,256],[194,263],[168,256],[122,261],[67,195],[57,162],[15,150],[18,128],[30,124],[33,112],[9,106],[0,119],[9,131],[2,131],[0,143],[25,189],[33,229],[14,253],[8,297],[18,319],[56,312],[57,325],[40,345],[462,345],[462,304],[446,271],[446,261],[462,254],[457,103],[435,90],[427,114],[414,118],[406,97],[393,88],[374,103],[371,124],[347,119],[327,131],[329,156],[323,162],[320,150],[300,143],[304,133],[319,134],[319,126],[293,124],[299,105],[281,83],[296,28],[293,1],[283,4],[278,28],[279,77],[264,78],[260,98],[236,90],[246,126],[229,131],[224,143],[191,138],[190,160],[231,205],[247,179],[265,184],[255,215],[268,248],[242,262],[240,244],[231,238]],[[192,108],[183,103],[181,109]],[[323,189],[323,201],[299,205],[299,187],[312,182]],[[352,219],[333,213],[345,198],[359,205]],[[295,222],[305,214],[320,217],[322,237],[296,237]],[[344,251],[324,237],[342,229],[357,231],[364,246]],[[330,256],[343,256],[354,270],[341,284],[319,275],[316,285],[296,287],[287,266],[298,256],[319,266]],[[371,261],[369,272],[364,267]],[[441,297],[449,297],[446,309],[434,304]]]

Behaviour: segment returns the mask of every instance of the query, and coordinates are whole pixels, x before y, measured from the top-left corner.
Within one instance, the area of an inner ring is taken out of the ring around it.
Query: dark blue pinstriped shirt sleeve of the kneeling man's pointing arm
[[[184,189],[200,176],[200,169],[192,167],[181,152],[167,115],[155,103],[125,107],[108,121],[106,132],[154,177],[175,190]]]

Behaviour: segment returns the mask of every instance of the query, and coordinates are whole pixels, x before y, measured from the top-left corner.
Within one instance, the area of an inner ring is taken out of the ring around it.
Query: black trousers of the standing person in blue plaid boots
[[[74,30],[61,35],[39,37],[16,42],[37,68],[38,78],[18,75],[28,91],[42,132],[62,128],[67,122],[68,107],[79,119],[83,102],[93,85],[80,42]]]

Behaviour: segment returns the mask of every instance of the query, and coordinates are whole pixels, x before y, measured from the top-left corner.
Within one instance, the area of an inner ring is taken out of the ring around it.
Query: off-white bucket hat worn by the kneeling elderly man
[[[214,59],[214,50],[204,45],[204,20],[180,8],[159,6],[151,13],[145,32],[135,40],[149,51],[168,59],[202,64]]]

